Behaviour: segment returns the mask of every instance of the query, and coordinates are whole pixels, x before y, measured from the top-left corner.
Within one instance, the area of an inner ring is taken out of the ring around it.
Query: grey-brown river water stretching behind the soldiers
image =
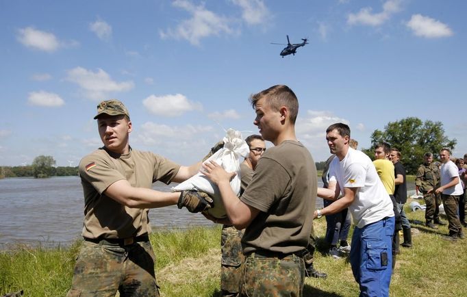
[[[170,191],[172,185],[154,183],[153,189]],[[0,249],[18,243],[33,246],[68,245],[81,235],[84,198],[79,177],[0,179]],[[316,205],[323,207],[323,199]],[[201,214],[173,205],[151,209],[155,229],[213,226]]]

